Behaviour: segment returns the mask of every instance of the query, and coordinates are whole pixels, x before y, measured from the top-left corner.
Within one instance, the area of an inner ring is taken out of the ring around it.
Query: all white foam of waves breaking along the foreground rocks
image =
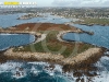
[[[105,61],[109,61],[109,58],[107,56],[104,56],[100,58],[99,61],[97,61],[97,63],[95,63],[96,67],[99,68],[105,68],[102,62],[105,63]],[[50,77],[59,77],[61,79],[66,80],[66,82],[75,82],[75,80],[77,78],[75,78],[73,75],[73,71],[71,72],[65,72],[62,73],[62,66],[60,65],[55,65],[55,69],[53,68],[49,68],[50,63],[48,62],[27,62],[32,66],[31,69],[26,69],[23,68],[23,70],[20,70],[20,68],[22,68],[22,66],[24,66],[23,62],[14,62],[14,61],[8,61],[5,63],[0,65],[0,73],[2,72],[11,72],[12,73],[12,78],[15,79],[21,79],[27,75],[27,71],[31,71],[34,75],[38,75],[39,72],[41,72],[41,70],[37,69],[37,65],[40,65],[43,67],[47,67],[44,68],[43,70],[45,72],[47,72]],[[11,70],[11,71],[10,71]],[[107,69],[104,69],[105,71],[97,71],[97,77],[92,77],[92,81],[94,82],[108,82],[109,81],[109,71]],[[19,75],[16,74],[16,71],[19,72]],[[58,72],[58,74],[56,73]],[[22,74],[23,73],[23,74]],[[92,71],[90,71],[92,73]],[[84,79],[84,82],[87,82],[87,78],[86,75],[81,77],[80,79]]]

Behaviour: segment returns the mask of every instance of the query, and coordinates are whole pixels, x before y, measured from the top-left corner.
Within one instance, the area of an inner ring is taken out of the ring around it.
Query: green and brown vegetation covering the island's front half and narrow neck
[[[36,43],[36,44],[31,44],[27,46],[23,46],[22,48],[14,48],[13,51],[33,51],[32,47],[35,49],[37,52],[51,52],[51,54],[61,54],[64,57],[69,56],[75,56],[80,52],[85,51],[86,49],[94,47],[88,44],[83,44],[83,43],[64,43],[64,42],[59,42],[57,39],[58,31],[49,31],[47,37],[45,40]],[[48,48],[49,50],[45,50],[45,47]],[[62,47],[62,51],[59,51]]]

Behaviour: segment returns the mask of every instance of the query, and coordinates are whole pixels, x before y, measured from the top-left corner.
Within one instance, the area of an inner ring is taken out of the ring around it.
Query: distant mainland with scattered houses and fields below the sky
[[[23,15],[19,19],[28,19],[43,16],[39,13],[50,13],[51,15],[71,19],[75,24],[82,25],[109,25],[109,8],[13,8],[13,9],[1,9],[0,14],[12,14],[12,13],[31,13],[31,15]],[[34,13],[34,14],[33,14]],[[38,14],[38,15],[37,15]]]

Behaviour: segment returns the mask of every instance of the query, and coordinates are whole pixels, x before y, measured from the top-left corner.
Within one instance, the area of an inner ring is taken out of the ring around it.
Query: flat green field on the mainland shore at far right
[[[81,20],[84,20],[84,21],[78,21],[75,23],[109,25],[109,19],[81,19]]]

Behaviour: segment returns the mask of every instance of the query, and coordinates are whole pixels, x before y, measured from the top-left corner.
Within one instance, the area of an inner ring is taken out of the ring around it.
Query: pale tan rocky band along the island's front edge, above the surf
[[[62,55],[52,55],[49,52],[27,52],[13,51],[10,48],[3,51],[3,56],[9,60],[27,60],[27,61],[46,61],[62,65],[64,69],[81,69],[87,68],[89,65],[96,62],[102,55],[105,48],[89,48],[88,50],[76,55],[75,57],[64,58]]]

